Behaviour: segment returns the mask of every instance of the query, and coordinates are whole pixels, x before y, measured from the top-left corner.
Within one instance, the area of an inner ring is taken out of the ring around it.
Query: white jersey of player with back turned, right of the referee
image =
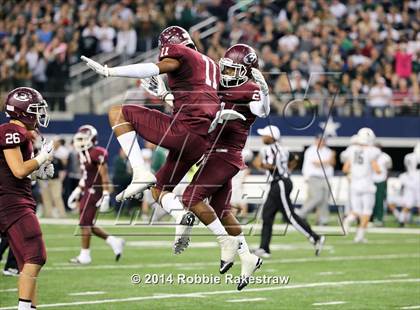
[[[381,151],[373,146],[352,145],[348,148],[351,188],[358,192],[375,192],[372,162]]]

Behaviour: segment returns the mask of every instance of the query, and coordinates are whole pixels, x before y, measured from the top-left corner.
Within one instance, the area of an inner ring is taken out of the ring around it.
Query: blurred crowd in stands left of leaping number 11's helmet
[[[65,110],[69,66],[81,55],[151,49],[167,25],[209,16],[193,1],[68,0],[0,2],[0,93],[32,86],[52,110]]]

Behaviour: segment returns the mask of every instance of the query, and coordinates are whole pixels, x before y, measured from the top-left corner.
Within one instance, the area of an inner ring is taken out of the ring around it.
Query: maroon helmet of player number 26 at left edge
[[[42,95],[30,87],[12,90],[6,98],[6,114],[24,123],[28,129],[47,127],[50,122],[48,104]]]

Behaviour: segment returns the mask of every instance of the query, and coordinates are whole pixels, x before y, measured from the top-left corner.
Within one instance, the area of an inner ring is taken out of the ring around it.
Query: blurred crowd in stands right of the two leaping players
[[[260,1],[244,13],[200,48],[220,59],[255,47],[278,113],[326,115],[333,101],[338,115],[420,113],[419,1]]]

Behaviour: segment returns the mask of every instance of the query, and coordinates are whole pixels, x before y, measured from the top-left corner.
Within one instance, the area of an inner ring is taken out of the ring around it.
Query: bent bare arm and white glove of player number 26
[[[50,143],[44,143],[38,156],[27,161],[23,161],[20,146],[4,149],[3,152],[7,165],[13,175],[18,179],[23,179],[32,174],[32,172],[37,170],[42,164],[51,160],[53,150],[52,141]]]

